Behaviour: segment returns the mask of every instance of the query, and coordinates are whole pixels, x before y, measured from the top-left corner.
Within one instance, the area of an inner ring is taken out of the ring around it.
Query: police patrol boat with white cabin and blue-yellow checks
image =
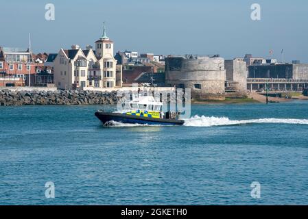
[[[127,103],[126,103],[127,104]],[[184,120],[179,119],[178,112],[162,111],[163,103],[157,102],[154,96],[140,96],[128,101],[129,109],[123,112],[104,112],[99,110],[95,116],[104,125],[111,125],[112,121],[119,123],[141,125],[183,125]]]

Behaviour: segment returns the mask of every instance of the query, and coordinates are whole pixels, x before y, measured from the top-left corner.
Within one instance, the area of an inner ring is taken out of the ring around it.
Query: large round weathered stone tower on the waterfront
[[[193,99],[223,99],[226,71],[221,57],[167,57],[165,83],[190,88]]]

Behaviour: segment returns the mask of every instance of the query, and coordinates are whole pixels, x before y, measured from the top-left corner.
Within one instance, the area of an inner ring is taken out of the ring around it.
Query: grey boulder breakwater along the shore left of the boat
[[[0,90],[0,105],[112,105],[117,92],[78,90],[12,91]]]

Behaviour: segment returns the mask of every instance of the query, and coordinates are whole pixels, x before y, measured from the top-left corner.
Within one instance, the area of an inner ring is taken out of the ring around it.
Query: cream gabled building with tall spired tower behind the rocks
[[[73,45],[71,49],[60,49],[54,59],[54,81],[57,88],[115,88],[116,64],[113,57],[113,42],[103,36],[95,42],[95,51]]]

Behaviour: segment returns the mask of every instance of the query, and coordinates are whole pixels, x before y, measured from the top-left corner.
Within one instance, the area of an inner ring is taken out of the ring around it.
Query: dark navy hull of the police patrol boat
[[[184,120],[165,119],[165,118],[147,118],[141,116],[132,116],[126,114],[108,113],[108,112],[95,112],[95,116],[106,124],[110,121],[128,124],[141,124],[141,125],[184,125]]]

